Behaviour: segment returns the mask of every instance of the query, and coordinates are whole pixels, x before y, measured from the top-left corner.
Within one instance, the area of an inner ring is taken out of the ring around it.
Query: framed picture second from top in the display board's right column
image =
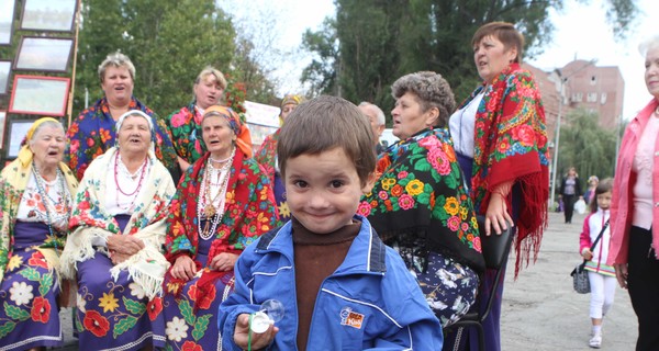
[[[72,48],[71,37],[23,36],[14,69],[64,73],[68,70]]]

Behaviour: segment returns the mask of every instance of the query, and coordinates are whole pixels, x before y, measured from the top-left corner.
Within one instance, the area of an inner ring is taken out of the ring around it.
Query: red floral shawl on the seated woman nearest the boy
[[[174,263],[178,256],[197,257],[199,245],[197,204],[203,181],[206,152],[186,171],[179,182],[167,217],[167,259]],[[224,217],[217,226],[209,251],[210,263],[219,253],[239,253],[260,235],[275,227],[277,206],[270,182],[259,165],[236,149],[226,190]]]

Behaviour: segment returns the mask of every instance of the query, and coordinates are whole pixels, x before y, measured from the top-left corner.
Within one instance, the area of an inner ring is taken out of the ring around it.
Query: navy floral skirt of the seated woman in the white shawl
[[[80,350],[138,350],[165,346],[163,298],[152,301],[122,271],[110,274],[112,261],[102,252],[78,262],[76,330]]]

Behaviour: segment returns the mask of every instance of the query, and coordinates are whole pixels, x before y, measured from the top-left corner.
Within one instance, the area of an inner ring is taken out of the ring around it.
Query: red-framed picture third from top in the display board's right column
[[[15,75],[9,112],[64,116],[70,82],[63,77]]]

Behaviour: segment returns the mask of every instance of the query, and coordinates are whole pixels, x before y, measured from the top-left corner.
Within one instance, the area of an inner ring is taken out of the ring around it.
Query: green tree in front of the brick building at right
[[[595,112],[581,109],[566,116],[558,147],[558,170],[561,173],[557,174],[576,167],[582,180],[592,174],[600,179],[613,176],[616,131],[601,127],[597,121]]]

